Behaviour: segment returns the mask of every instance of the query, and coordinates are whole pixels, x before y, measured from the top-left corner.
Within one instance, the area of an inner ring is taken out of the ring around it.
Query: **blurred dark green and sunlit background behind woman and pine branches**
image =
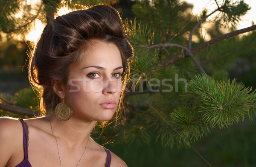
[[[218,0],[219,4],[224,1]],[[235,5],[240,1],[230,1]],[[255,1],[244,1],[250,10],[241,12],[235,20],[218,20],[220,15],[213,15],[203,23],[193,36],[192,46],[198,46],[219,35],[236,29],[252,26],[256,21]],[[28,80],[28,60],[33,46],[40,37],[46,23],[50,22],[47,14],[67,12],[68,8],[81,9],[87,5],[108,3],[119,11],[127,22],[136,19],[137,25],[147,25],[154,32],[155,43],[179,43],[188,40],[188,32],[195,23],[213,11],[216,0],[1,0],[0,1],[0,104],[38,110],[38,97],[33,92]],[[48,4],[48,5],[46,5]],[[170,4],[169,8],[165,8]],[[240,6],[241,7],[241,6]],[[244,6],[242,6],[244,7]],[[242,8],[241,7],[241,8]],[[51,10],[49,8],[54,8]],[[58,9],[57,9],[58,8]],[[245,8],[245,7],[244,7]],[[237,8],[239,9],[239,8]],[[50,12],[49,12],[50,11]],[[254,11],[251,12],[251,11]],[[173,13],[172,13],[173,12]],[[52,15],[53,16],[53,15]],[[170,17],[172,16],[172,17]],[[182,18],[182,23],[178,18]],[[171,19],[173,22],[171,22]],[[166,25],[172,29],[166,30]],[[180,33],[180,34],[179,34]],[[234,78],[246,87],[256,89],[256,32],[232,37],[195,54],[208,75],[215,78]],[[132,43],[132,42],[131,42]],[[170,52],[163,50],[162,59],[169,58]],[[168,54],[167,54],[168,53]],[[218,56],[213,56],[218,55]],[[205,57],[207,59],[204,59]],[[187,66],[184,66],[186,64]],[[187,80],[198,71],[191,63],[178,62],[174,68]],[[170,69],[172,70],[172,69]],[[28,115],[0,109],[0,116],[29,118]],[[255,118],[253,118],[255,120]],[[95,130],[93,137],[105,144],[113,153],[119,155],[129,167],[254,167],[256,166],[255,123],[247,118],[239,124],[219,130],[214,129],[202,140],[192,142],[190,148],[177,145],[166,146],[157,140],[155,127],[149,127],[151,140],[143,144],[127,142],[120,133],[115,138]],[[111,132],[114,132],[112,130]],[[110,132],[110,135],[111,135]],[[114,133],[112,134],[114,135]],[[99,138],[98,138],[99,137]],[[142,140],[147,140],[142,138]]]

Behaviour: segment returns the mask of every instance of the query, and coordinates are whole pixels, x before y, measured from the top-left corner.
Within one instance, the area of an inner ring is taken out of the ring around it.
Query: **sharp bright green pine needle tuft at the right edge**
[[[212,128],[229,127],[249,118],[249,107],[254,107],[256,90],[245,87],[236,80],[215,82],[211,77],[195,75],[189,81],[188,89],[200,97],[200,103],[196,105],[198,112],[204,113],[204,121]]]

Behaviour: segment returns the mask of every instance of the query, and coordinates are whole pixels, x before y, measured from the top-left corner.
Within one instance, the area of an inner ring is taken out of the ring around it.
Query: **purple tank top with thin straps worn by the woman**
[[[28,145],[27,145],[28,136],[26,135],[26,131],[25,131],[25,128],[28,131],[28,127],[27,127],[26,123],[23,121],[22,118],[19,118],[19,121],[21,122],[22,127],[23,127],[23,144],[24,144],[25,158],[16,167],[32,167],[31,164],[29,163],[29,159],[28,159]],[[103,148],[105,149],[105,151],[107,153],[107,159],[106,159],[105,167],[110,167],[110,164],[111,164],[111,153],[105,147],[103,147]]]

